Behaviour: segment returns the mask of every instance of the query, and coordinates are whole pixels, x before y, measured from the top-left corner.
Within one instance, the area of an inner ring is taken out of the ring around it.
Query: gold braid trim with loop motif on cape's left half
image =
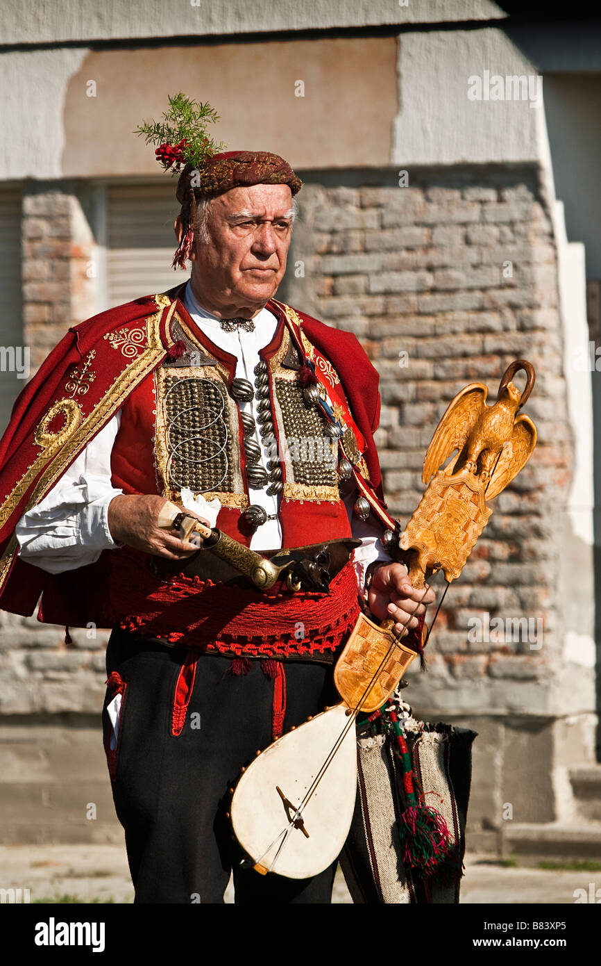
[[[96,435],[98,423],[103,420],[108,421],[117,412],[132,389],[146,379],[160,358],[164,357],[166,350],[160,339],[160,322],[164,308],[166,304],[170,304],[170,300],[166,296],[157,296],[156,301],[159,304],[162,303],[162,307],[146,320],[147,348],[142,355],[134,359],[131,365],[128,365],[115,378],[90,415],[83,418],[82,421],[82,413],[78,404],[72,399],[60,399],[42,416],[35,432],[35,440],[39,446],[44,447],[44,450],[27,469],[17,482],[13,492],[4,502],[0,509],[0,526],[4,526],[10,518],[23,492],[27,490],[31,481],[38,475],[43,464],[52,460],[59,452],[61,453],[60,458],[54,460],[52,465],[42,473],[31,497],[27,501],[23,513],[27,513],[28,510],[31,510],[32,507],[36,506],[46,496],[55,482],[63,475],[65,469],[68,469],[68,466],[72,463],[77,453],[84,449],[88,442]],[[176,302],[174,301],[167,319],[168,323],[175,306]],[[67,423],[57,433],[49,433],[47,431],[47,425],[57,412],[65,413]],[[16,538],[13,537],[0,559],[0,589],[6,581],[16,547]]]

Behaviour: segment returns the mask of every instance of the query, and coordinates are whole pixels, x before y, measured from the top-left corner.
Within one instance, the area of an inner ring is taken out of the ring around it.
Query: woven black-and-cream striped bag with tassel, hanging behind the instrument
[[[390,711],[396,712],[395,727]],[[353,902],[459,901],[476,736],[467,728],[416,721],[397,696],[382,714],[358,725],[357,801],[340,858]],[[411,810],[416,801],[435,816],[436,830],[445,830],[445,844],[426,870],[415,861],[423,842],[419,833],[412,841],[407,824],[409,814],[420,813]]]

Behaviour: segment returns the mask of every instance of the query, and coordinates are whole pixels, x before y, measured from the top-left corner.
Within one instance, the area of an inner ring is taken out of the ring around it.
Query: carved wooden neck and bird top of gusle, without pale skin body
[[[523,392],[511,382],[519,370],[527,376]],[[505,370],[493,406],[486,405],[488,388],[471,383],[442,417],[423,461],[423,483],[430,482],[420,505],[402,533],[398,527],[384,535],[389,552],[406,564],[414,587],[423,587],[439,570],[447,587],[459,576],[492,513],[486,498],[498,496],[532,456],[536,428],[518,411],[533,384],[533,365],[516,359]],[[335,682],[355,713],[382,707],[415,658],[416,652],[396,638],[394,623],[389,619],[378,625],[361,614],[341,653]]]

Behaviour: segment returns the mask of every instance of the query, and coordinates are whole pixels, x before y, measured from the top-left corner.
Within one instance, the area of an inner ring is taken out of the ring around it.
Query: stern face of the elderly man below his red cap
[[[286,271],[292,227],[288,185],[234,187],[214,198],[207,241],[195,239],[192,288],[224,318],[250,318],[275,295]]]

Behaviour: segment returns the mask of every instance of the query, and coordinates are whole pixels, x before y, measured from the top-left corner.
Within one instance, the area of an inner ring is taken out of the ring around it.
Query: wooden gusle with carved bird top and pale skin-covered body
[[[523,391],[512,382],[520,370],[527,377]],[[391,555],[402,559],[424,594],[438,571],[447,585],[459,576],[493,512],[486,500],[498,496],[532,456],[536,429],[529,416],[518,413],[533,384],[532,364],[517,359],[505,370],[492,406],[486,404],[487,387],[472,383],[438,424],[425,454],[427,487],[420,504],[402,532],[397,526],[388,534]],[[229,541],[223,553],[231,552]],[[253,558],[252,573],[260,579],[263,566]],[[279,573],[285,570],[283,563]],[[394,694],[416,656],[393,626],[392,620],[378,625],[361,613],[335,668],[341,702],[283,735],[243,770],[232,796],[232,828],[258,872],[304,879],[340,855],[355,804],[355,721]]]

